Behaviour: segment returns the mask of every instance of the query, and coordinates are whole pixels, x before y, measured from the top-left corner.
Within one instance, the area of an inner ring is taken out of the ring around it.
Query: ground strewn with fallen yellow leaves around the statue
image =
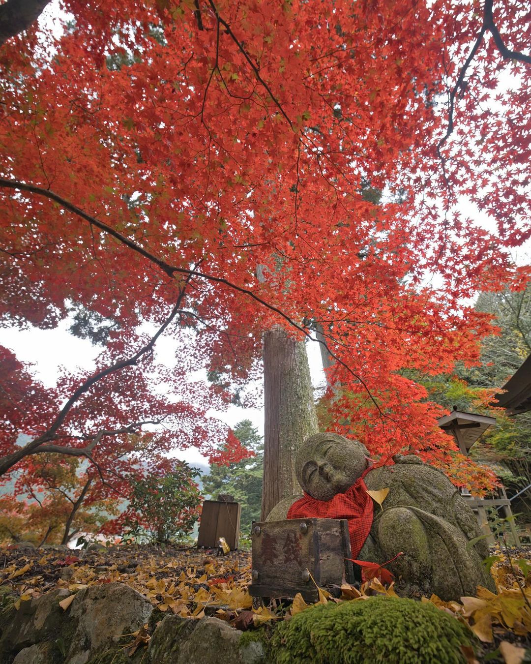
[[[496,582],[496,594],[478,588],[475,597],[443,602],[436,596],[423,598],[456,620],[469,625],[479,639],[476,653],[465,653],[475,661],[520,664],[531,661],[531,547],[500,548],[487,560]],[[214,615],[239,629],[273,625],[305,610],[298,595],[293,602],[255,603],[248,592],[250,553],[167,546],[91,546],[86,551],[64,547],[4,548],[0,551],[0,600],[21,602],[54,588],[72,594],[61,602],[66,610],[76,592],[97,584],[121,582],[145,595],[162,614],[183,618]],[[383,585],[378,576],[360,588],[343,584],[337,597],[319,591],[319,604],[360,601],[372,596],[396,596],[393,584]],[[528,651],[526,653],[526,650]],[[479,657],[479,660],[477,659]]]

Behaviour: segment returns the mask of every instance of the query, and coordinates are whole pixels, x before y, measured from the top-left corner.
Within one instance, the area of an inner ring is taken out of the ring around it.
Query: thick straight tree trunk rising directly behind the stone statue
[[[280,325],[264,334],[264,408],[262,521],[279,500],[301,492],[295,451],[317,433],[305,344]]]

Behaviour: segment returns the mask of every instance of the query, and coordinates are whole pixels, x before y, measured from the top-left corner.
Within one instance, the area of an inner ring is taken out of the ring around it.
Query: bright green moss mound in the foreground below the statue
[[[461,664],[473,635],[432,604],[374,597],[315,606],[275,630],[276,664]]]

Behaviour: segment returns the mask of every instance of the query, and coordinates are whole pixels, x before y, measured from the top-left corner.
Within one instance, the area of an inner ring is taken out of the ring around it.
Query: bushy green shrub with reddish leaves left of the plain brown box
[[[201,495],[194,482],[199,471],[178,461],[164,477],[136,482],[125,519],[127,535],[167,544],[189,535],[199,517]]]

